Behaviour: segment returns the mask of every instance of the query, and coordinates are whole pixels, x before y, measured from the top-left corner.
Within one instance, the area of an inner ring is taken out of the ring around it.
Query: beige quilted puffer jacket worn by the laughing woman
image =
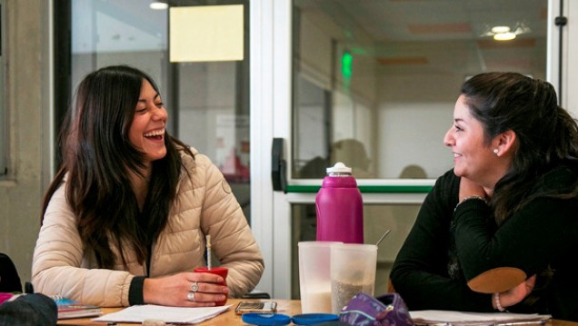
[[[154,243],[148,276],[192,272],[204,266],[205,234],[210,234],[214,256],[229,269],[229,295],[238,297],[259,282],[263,257],[223,174],[208,157],[192,151],[194,160],[183,156],[191,178],[182,171],[169,222]],[[35,291],[103,307],[128,306],[133,277],[145,275],[145,266],[136,261],[129,247],[124,247],[128,269],[120,258],[114,270],[97,269],[83,250],[63,184],[48,204],[36,242]],[[114,245],[111,248],[116,252]]]

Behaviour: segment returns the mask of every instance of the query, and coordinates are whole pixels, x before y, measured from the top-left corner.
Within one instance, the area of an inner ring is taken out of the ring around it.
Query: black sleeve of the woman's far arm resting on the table
[[[392,283],[410,310],[493,311],[491,295],[471,291],[463,273],[448,272],[458,190],[453,171],[436,181],[394,262]]]

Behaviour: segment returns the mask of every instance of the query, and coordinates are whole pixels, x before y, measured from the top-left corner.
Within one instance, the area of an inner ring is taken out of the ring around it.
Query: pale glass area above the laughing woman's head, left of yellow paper
[[[154,78],[168,97],[164,102],[171,114],[167,10],[153,10],[148,2],[136,0],[75,0],[71,4],[73,91],[95,69],[129,64]]]

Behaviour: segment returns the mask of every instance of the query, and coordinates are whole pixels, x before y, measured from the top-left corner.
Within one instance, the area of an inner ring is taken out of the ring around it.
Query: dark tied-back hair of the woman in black
[[[486,73],[467,80],[462,94],[483,124],[487,144],[499,133],[516,133],[512,166],[496,183],[491,200],[498,224],[533,198],[578,195],[578,185],[566,193],[553,189],[533,193],[533,184],[554,166],[578,170],[578,125],[558,105],[552,84],[523,74]]]

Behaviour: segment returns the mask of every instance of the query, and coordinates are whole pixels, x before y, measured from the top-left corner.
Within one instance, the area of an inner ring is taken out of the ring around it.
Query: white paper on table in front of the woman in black
[[[463,312],[463,311],[410,311],[412,320],[428,325],[530,325],[541,324],[551,315],[511,312]]]

